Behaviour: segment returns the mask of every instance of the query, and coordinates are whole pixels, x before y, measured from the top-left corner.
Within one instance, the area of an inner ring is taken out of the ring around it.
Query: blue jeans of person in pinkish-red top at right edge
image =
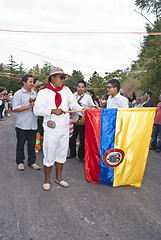
[[[157,144],[157,137],[159,137],[159,142]],[[156,149],[161,150],[161,125],[155,124],[153,126],[153,133],[152,133],[152,138],[151,138],[151,147]]]

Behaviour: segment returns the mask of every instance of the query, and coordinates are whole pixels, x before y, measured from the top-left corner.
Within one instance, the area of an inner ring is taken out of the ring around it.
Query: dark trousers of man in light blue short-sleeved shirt
[[[16,163],[24,162],[24,145],[27,141],[28,165],[32,165],[36,161],[35,144],[36,130],[23,130],[16,127],[17,147],[16,147]]]

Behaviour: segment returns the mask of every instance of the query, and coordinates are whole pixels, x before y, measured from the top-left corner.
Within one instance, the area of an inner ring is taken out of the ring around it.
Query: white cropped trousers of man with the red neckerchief
[[[44,129],[43,164],[51,167],[55,162],[65,163],[69,147],[69,129],[55,131],[52,128]]]

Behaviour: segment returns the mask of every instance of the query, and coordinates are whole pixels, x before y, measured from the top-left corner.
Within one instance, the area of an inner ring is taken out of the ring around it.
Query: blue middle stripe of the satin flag
[[[101,109],[100,182],[113,186],[114,168],[103,162],[104,153],[114,148],[117,108]]]

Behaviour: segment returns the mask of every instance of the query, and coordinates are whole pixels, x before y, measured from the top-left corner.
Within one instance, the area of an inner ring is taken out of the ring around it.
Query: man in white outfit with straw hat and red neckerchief
[[[44,190],[50,189],[50,173],[54,164],[56,167],[55,182],[63,187],[68,186],[68,183],[62,179],[62,169],[69,144],[69,114],[64,113],[69,108],[78,111],[83,109],[76,102],[70,89],[64,86],[64,81],[68,76],[61,68],[53,67],[48,78],[49,84],[38,93],[33,108],[36,116],[44,117]]]

